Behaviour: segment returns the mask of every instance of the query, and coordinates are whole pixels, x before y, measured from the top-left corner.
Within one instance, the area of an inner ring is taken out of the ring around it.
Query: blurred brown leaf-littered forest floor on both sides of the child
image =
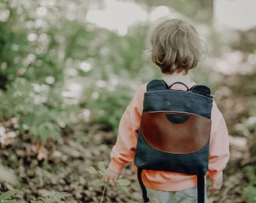
[[[224,170],[221,190],[208,192],[209,203],[246,202],[242,197],[247,185],[244,167],[251,162],[252,157],[246,138],[236,136],[234,129],[235,123],[245,112],[246,98],[238,98],[233,102],[226,98],[219,103],[222,104],[219,108],[230,129],[230,162]],[[234,110],[239,104],[240,108]],[[231,110],[236,111],[235,114],[230,114]],[[61,202],[99,202],[103,189],[92,182],[99,177],[89,174],[86,168],[97,167],[98,162],[104,162],[107,166],[114,141],[115,135],[104,126],[77,126],[74,132],[66,132],[61,138],[48,141],[45,148],[41,147],[47,159],[38,161],[39,144],[29,135],[19,135],[11,144],[2,147],[0,158],[2,165],[12,169],[20,184],[2,182],[0,193],[19,189],[20,192],[13,196],[19,202],[36,201],[53,192],[69,192],[72,195]],[[123,177],[131,181],[130,186],[127,186],[130,197],[114,187],[106,190],[102,202],[142,202],[141,189],[131,168],[128,164],[123,170]]]

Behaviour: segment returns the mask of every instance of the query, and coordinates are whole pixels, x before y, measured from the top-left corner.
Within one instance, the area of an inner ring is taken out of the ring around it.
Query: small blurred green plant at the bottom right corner
[[[251,165],[246,166],[245,174],[248,177],[248,186],[243,190],[242,196],[246,198],[247,203],[253,203],[256,201],[256,175],[254,167]]]

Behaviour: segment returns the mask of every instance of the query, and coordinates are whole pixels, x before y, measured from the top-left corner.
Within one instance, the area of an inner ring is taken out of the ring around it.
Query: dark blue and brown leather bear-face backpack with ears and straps
[[[179,82],[178,82],[179,83]],[[197,175],[198,203],[204,202],[209,163],[212,95],[208,86],[195,85],[187,91],[170,89],[163,80],[151,80],[145,92],[135,165],[142,170],[174,171]]]

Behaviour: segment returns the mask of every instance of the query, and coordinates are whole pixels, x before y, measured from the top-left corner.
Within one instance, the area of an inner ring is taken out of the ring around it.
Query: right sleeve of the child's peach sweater
[[[209,177],[217,179],[222,176],[230,158],[229,135],[223,115],[217,105],[212,105],[212,130],[209,147]]]

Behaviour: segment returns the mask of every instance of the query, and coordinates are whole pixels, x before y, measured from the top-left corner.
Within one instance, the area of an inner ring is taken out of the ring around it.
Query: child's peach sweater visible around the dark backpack
[[[190,83],[188,87],[195,83]],[[137,89],[130,105],[126,108],[120,120],[117,141],[111,150],[111,162],[109,168],[120,173],[127,162],[133,162],[136,151],[136,144],[142,118],[143,98],[147,84]],[[229,160],[229,136],[227,126],[217,105],[212,105],[212,131],[209,147],[209,177],[217,179],[221,177],[222,171]],[[142,171],[142,180],[145,186],[151,189],[163,191],[180,191],[197,186],[197,176],[179,174],[166,171]]]

